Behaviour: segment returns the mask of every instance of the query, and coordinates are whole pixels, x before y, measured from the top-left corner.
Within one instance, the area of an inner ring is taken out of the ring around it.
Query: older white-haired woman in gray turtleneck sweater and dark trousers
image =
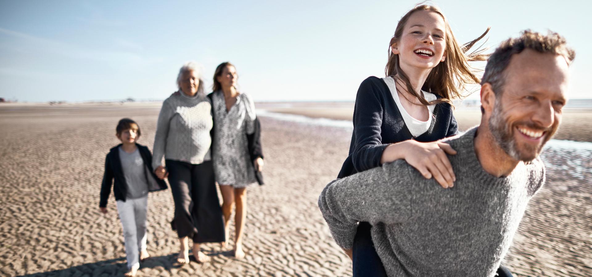
[[[152,166],[159,178],[168,177],[175,201],[171,225],[181,243],[179,263],[189,263],[189,237],[197,262],[211,259],[200,251],[200,243],[225,240],[210,150],[212,105],[201,73],[194,62],[179,70],[179,90],[162,103],[153,147]]]

